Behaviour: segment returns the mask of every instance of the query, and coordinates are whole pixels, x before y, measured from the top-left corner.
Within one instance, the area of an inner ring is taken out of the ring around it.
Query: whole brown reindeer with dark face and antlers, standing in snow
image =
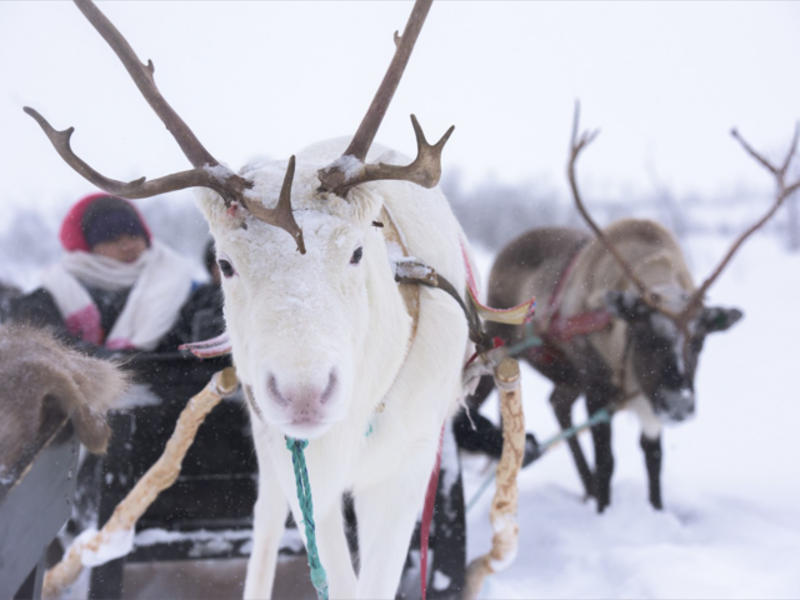
[[[578,113],[568,174],[579,211],[594,232],[568,228],[529,231],[506,246],[489,280],[488,303],[498,308],[535,295],[535,333],[542,345],[524,358],[555,384],[550,403],[563,429],[572,426],[572,405],[583,395],[588,412],[603,408],[633,410],[641,422],[641,447],[649,478],[650,503],[662,508],[661,429],[695,410],[694,375],[705,337],[725,331],[742,312],[706,307],[705,292],[741,244],[760,228],[786,198],[800,188],[786,173],[797,146],[797,132],[781,166],[775,166],[733,132],[747,152],[775,177],[775,203],[767,214],[733,244],[713,274],[695,287],[672,235],[652,221],[624,219],[601,230],[584,208],[575,176],[581,150],[596,134],[577,139]],[[488,324],[488,332],[515,344],[523,326]],[[488,385],[487,385],[488,384]],[[480,403],[491,390],[482,381],[471,399]],[[610,422],[592,428],[595,470],[591,471],[578,441],[569,441],[587,495],[598,512],[610,503],[614,469]]]

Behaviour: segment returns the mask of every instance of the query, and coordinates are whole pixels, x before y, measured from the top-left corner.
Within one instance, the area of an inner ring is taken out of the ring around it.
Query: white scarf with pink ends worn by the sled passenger
[[[81,282],[104,290],[133,287],[111,331],[103,339],[100,311]],[[108,348],[153,350],[174,325],[192,287],[191,266],[169,247],[151,241],[135,262],[88,252],[70,252],[44,273],[67,329]]]

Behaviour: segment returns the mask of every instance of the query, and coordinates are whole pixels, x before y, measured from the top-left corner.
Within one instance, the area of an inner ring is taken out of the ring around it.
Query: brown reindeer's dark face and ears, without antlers
[[[609,292],[606,301],[611,314],[628,325],[633,375],[656,415],[667,422],[692,416],[694,374],[705,338],[732,327],[742,318],[742,311],[703,307],[680,328],[636,292]]]

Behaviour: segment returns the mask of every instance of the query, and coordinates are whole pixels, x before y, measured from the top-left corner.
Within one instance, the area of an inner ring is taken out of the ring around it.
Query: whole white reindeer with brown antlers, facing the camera
[[[271,593],[287,502],[295,520],[303,519],[285,442],[294,437],[311,440],[308,472],[331,595],[394,597],[471,350],[453,298],[395,281],[394,265],[415,257],[456,290],[466,289],[466,241],[434,187],[452,128],[431,146],[412,117],[419,154],[408,167],[396,166],[401,157],[392,152],[367,154],[430,0],[418,0],[402,38],[396,36],[389,71],[346,149],[341,140],[325,142],[296,161],[252,165],[238,174],[220,165],[164,101],[152,63],[139,61],[94,4],[75,2],[194,169],[151,181],[107,179],[71,151],[71,129],[57,132],[25,110],[62,158],[108,193],[134,199],[206,188],[199,205],[224,275],[225,319],[260,469],[245,596]],[[368,158],[379,162],[366,164]],[[359,525],[358,577],[341,514],[347,491]]]

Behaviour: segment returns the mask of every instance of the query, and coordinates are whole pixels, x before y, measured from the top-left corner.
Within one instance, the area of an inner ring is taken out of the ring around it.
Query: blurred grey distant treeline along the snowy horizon
[[[445,177],[442,188],[470,240],[489,250],[501,248],[533,227],[585,226],[572,200],[552,185],[485,181],[466,189],[462,178],[455,173]],[[749,190],[715,197],[676,197],[667,189],[641,197],[597,197],[590,190],[584,194],[584,201],[601,225],[623,217],[651,218],[666,225],[678,238],[708,233],[732,238],[761,216],[772,202],[768,193]],[[786,247],[793,250],[800,249],[798,201],[790,199],[788,206],[764,229],[766,234],[785,240]],[[191,193],[141,200],[137,205],[153,234],[190,257],[202,276],[201,256],[209,234]],[[41,268],[56,261],[61,253],[58,221],[68,209],[65,204],[59,210],[54,209],[58,214],[26,208],[9,215],[7,227],[0,230],[0,282],[26,289],[38,284]]]

